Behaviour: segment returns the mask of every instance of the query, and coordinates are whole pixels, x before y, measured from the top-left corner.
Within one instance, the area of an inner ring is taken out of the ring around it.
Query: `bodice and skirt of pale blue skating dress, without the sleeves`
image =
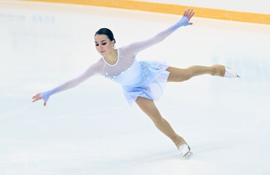
[[[162,96],[169,76],[169,72],[166,71],[168,66],[164,62],[138,62],[135,56],[133,58],[123,56],[122,48],[118,48],[116,64],[109,65],[104,58],[103,61],[106,64],[103,75],[122,85],[124,95],[130,105],[138,96],[154,101]],[[126,68],[122,69],[122,67]]]

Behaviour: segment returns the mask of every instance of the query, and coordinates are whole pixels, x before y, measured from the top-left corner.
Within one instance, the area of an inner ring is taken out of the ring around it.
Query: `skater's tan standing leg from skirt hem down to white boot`
[[[151,118],[155,126],[174,142],[177,148],[184,143],[187,144],[187,142],[181,136],[173,131],[170,124],[164,118],[162,118],[161,113],[157,109],[153,100],[138,97],[136,99],[136,104]]]

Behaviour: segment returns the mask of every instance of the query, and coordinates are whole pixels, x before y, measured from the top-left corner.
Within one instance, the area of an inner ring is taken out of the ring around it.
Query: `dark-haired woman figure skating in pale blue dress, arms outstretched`
[[[137,61],[136,55],[154,44],[162,42],[166,37],[181,26],[192,25],[189,20],[194,15],[193,9],[187,9],[181,20],[168,27],[152,38],[115,48],[115,39],[108,28],[99,29],[94,36],[97,51],[101,58],[89,66],[78,77],[55,87],[49,91],[38,93],[32,102],[44,100],[44,107],[51,95],[76,87],[93,75],[102,75],[122,85],[124,95],[131,105],[134,101],[145,112],[155,126],[168,136],[176,145],[182,157],[192,153],[183,137],[173,131],[170,124],[162,118],[154,101],[157,101],[167,82],[183,82],[203,74],[221,77],[239,77],[235,71],[222,65],[190,66],[186,69],[171,67],[165,62]]]

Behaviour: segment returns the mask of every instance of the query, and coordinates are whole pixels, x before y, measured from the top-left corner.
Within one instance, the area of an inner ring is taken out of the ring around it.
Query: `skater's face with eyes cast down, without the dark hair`
[[[107,35],[96,35],[95,44],[97,51],[102,55],[106,56],[112,50],[115,41],[110,41]]]

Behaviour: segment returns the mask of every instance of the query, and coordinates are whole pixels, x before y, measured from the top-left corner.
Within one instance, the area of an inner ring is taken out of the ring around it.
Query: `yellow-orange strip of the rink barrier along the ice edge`
[[[231,21],[237,21],[237,22],[270,24],[269,14],[238,12],[238,11],[230,11],[230,10],[165,4],[165,3],[156,3],[156,2],[146,2],[146,1],[135,1],[135,0],[26,0],[26,1],[92,5],[92,6],[102,6],[102,7],[111,7],[111,8],[166,13],[166,14],[174,14],[174,15],[183,15],[184,10],[190,7],[195,10],[196,17],[211,18],[211,19],[218,19],[218,20],[231,20]]]

